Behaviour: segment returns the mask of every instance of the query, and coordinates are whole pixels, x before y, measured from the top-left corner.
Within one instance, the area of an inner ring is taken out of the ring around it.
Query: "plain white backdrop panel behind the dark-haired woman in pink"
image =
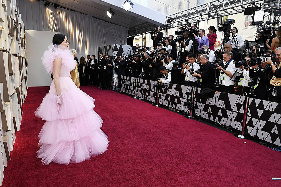
[[[41,57],[48,49],[50,38],[58,32],[26,30],[28,86],[50,86],[52,79],[43,67]]]

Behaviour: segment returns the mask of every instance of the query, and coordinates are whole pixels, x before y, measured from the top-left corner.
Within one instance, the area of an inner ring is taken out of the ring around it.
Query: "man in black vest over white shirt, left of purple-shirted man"
[[[188,32],[185,31],[183,35],[184,40],[179,41],[179,67],[181,67],[182,64],[186,62],[186,56],[188,55],[192,47],[192,40],[188,38]]]

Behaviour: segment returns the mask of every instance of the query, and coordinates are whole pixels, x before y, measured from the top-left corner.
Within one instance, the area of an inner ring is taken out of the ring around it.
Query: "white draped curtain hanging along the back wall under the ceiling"
[[[89,15],[46,7],[42,1],[16,0],[27,30],[59,32],[67,36],[70,48],[77,50],[77,58],[95,55],[98,47],[127,44],[128,28],[114,25]],[[52,38],[50,38],[50,44]],[[86,58],[87,59],[87,58]]]

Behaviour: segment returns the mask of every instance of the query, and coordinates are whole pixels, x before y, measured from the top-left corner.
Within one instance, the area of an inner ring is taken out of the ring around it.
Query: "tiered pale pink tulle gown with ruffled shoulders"
[[[45,120],[38,138],[37,158],[42,164],[55,162],[83,162],[107,150],[108,136],[100,129],[103,120],[93,110],[94,99],[74,84],[69,74],[76,61],[69,49],[50,45],[44,52],[42,62],[48,73],[53,73],[53,61],[62,59],[59,74],[62,105],[57,103],[54,81],[49,93],[35,111],[35,116]]]

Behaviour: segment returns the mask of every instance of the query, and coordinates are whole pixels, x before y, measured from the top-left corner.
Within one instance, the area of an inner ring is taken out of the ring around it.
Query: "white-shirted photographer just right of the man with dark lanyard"
[[[240,76],[240,79],[238,81],[238,88],[237,88],[237,95],[243,95],[243,96],[248,96],[250,93],[251,87],[249,86],[249,83],[252,82],[252,78],[249,77],[249,69],[250,67],[248,66],[249,61],[251,58],[249,56],[245,57],[245,61],[247,63],[247,66],[244,67],[242,64],[239,67],[239,69],[236,72],[236,76]]]

